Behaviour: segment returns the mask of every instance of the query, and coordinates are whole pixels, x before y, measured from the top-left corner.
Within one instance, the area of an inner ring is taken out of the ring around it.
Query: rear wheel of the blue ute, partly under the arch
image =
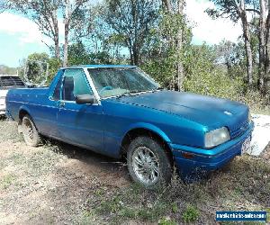
[[[29,115],[23,116],[22,121],[23,139],[25,143],[32,147],[38,147],[41,144],[40,134]]]

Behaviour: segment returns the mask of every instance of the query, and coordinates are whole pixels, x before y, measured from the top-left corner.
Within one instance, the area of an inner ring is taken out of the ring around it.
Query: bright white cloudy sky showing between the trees
[[[193,27],[193,43],[213,45],[221,40],[237,41],[241,26],[229,19],[211,20],[204,11],[214,5],[208,0],[187,0],[185,13]],[[63,36],[63,23],[59,24]],[[62,39],[60,39],[62,41]],[[18,67],[20,60],[33,52],[47,52],[52,41],[39,31],[38,26],[22,15],[10,12],[0,14],[0,65]]]

